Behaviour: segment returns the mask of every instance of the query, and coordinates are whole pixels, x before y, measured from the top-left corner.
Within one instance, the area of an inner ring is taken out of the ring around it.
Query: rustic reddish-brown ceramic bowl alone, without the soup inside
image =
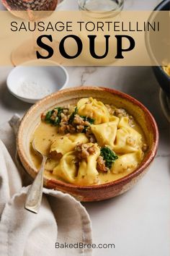
[[[138,124],[140,124],[140,127],[143,129],[148,144],[148,150],[142,163],[140,163],[135,171],[114,182],[81,187],[44,177],[45,187],[69,193],[73,195],[73,197],[76,197],[77,200],[84,202],[105,200],[128,191],[128,189],[132,188],[138,180],[146,174],[158,148],[158,128],[156,121],[153,119],[148,109],[143,106],[142,103],[135,100],[135,98],[130,97],[130,95],[117,90],[98,87],[79,87],[61,90],[58,93],[47,96],[32,106],[27,114],[24,115],[19,127],[17,135],[19,158],[25,170],[33,179],[37,174],[37,170],[32,163],[30,155],[30,137],[40,123],[42,112],[54,106],[74,104],[79,101],[79,99],[88,97],[97,98],[97,100],[103,103],[113,104],[118,108],[125,108],[130,115],[134,116],[135,120],[138,121]]]

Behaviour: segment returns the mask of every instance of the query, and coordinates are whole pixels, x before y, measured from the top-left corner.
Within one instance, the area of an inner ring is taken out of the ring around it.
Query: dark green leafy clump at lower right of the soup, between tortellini
[[[101,148],[100,155],[103,157],[103,159],[105,161],[105,166],[107,166],[107,168],[111,168],[112,163],[115,163],[115,161],[118,158],[118,156],[115,154],[115,152],[110,150],[107,147]]]

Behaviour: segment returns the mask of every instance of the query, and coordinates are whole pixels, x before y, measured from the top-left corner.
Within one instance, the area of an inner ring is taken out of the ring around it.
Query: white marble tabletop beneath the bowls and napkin
[[[75,8],[75,0],[66,0]],[[153,9],[158,0],[127,0],[125,8]],[[67,67],[69,87],[97,85],[116,88],[141,101],[155,117],[160,142],[148,174],[129,192],[103,202],[84,203],[92,221],[94,243],[114,243],[115,249],[94,249],[94,256],[170,255],[170,148],[169,123],[159,103],[158,82],[151,67]],[[22,103],[6,89],[11,68],[0,68],[0,124],[14,113],[23,115]]]

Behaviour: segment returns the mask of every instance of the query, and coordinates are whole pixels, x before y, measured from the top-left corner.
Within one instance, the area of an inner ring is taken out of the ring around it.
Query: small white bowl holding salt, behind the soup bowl
[[[21,101],[35,103],[66,88],[68,72],[55,61],[27,61],[14,67],[6,80],[9,92]]]

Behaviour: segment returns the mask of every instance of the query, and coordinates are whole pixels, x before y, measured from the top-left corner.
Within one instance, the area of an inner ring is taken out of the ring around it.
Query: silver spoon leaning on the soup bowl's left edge
[[[37,176],[35,177],[34,182],[32,183],[32,186],[30,187],[27,198],[24,204],[24,208],[26,210],[30,210],[32,213],[38,213],[38,210],[40,209],[41,200],[42,200],[42,187],[43,187],[43,174],[44,174],[44,168],[45,163],[48,159],[46,155],[43,155],[40,153],[40,151],[37,150],[35,147],[35,140],[32,142],[32,148],[41,155],[42,157],[42,163],[40,170],[37,173]]]

